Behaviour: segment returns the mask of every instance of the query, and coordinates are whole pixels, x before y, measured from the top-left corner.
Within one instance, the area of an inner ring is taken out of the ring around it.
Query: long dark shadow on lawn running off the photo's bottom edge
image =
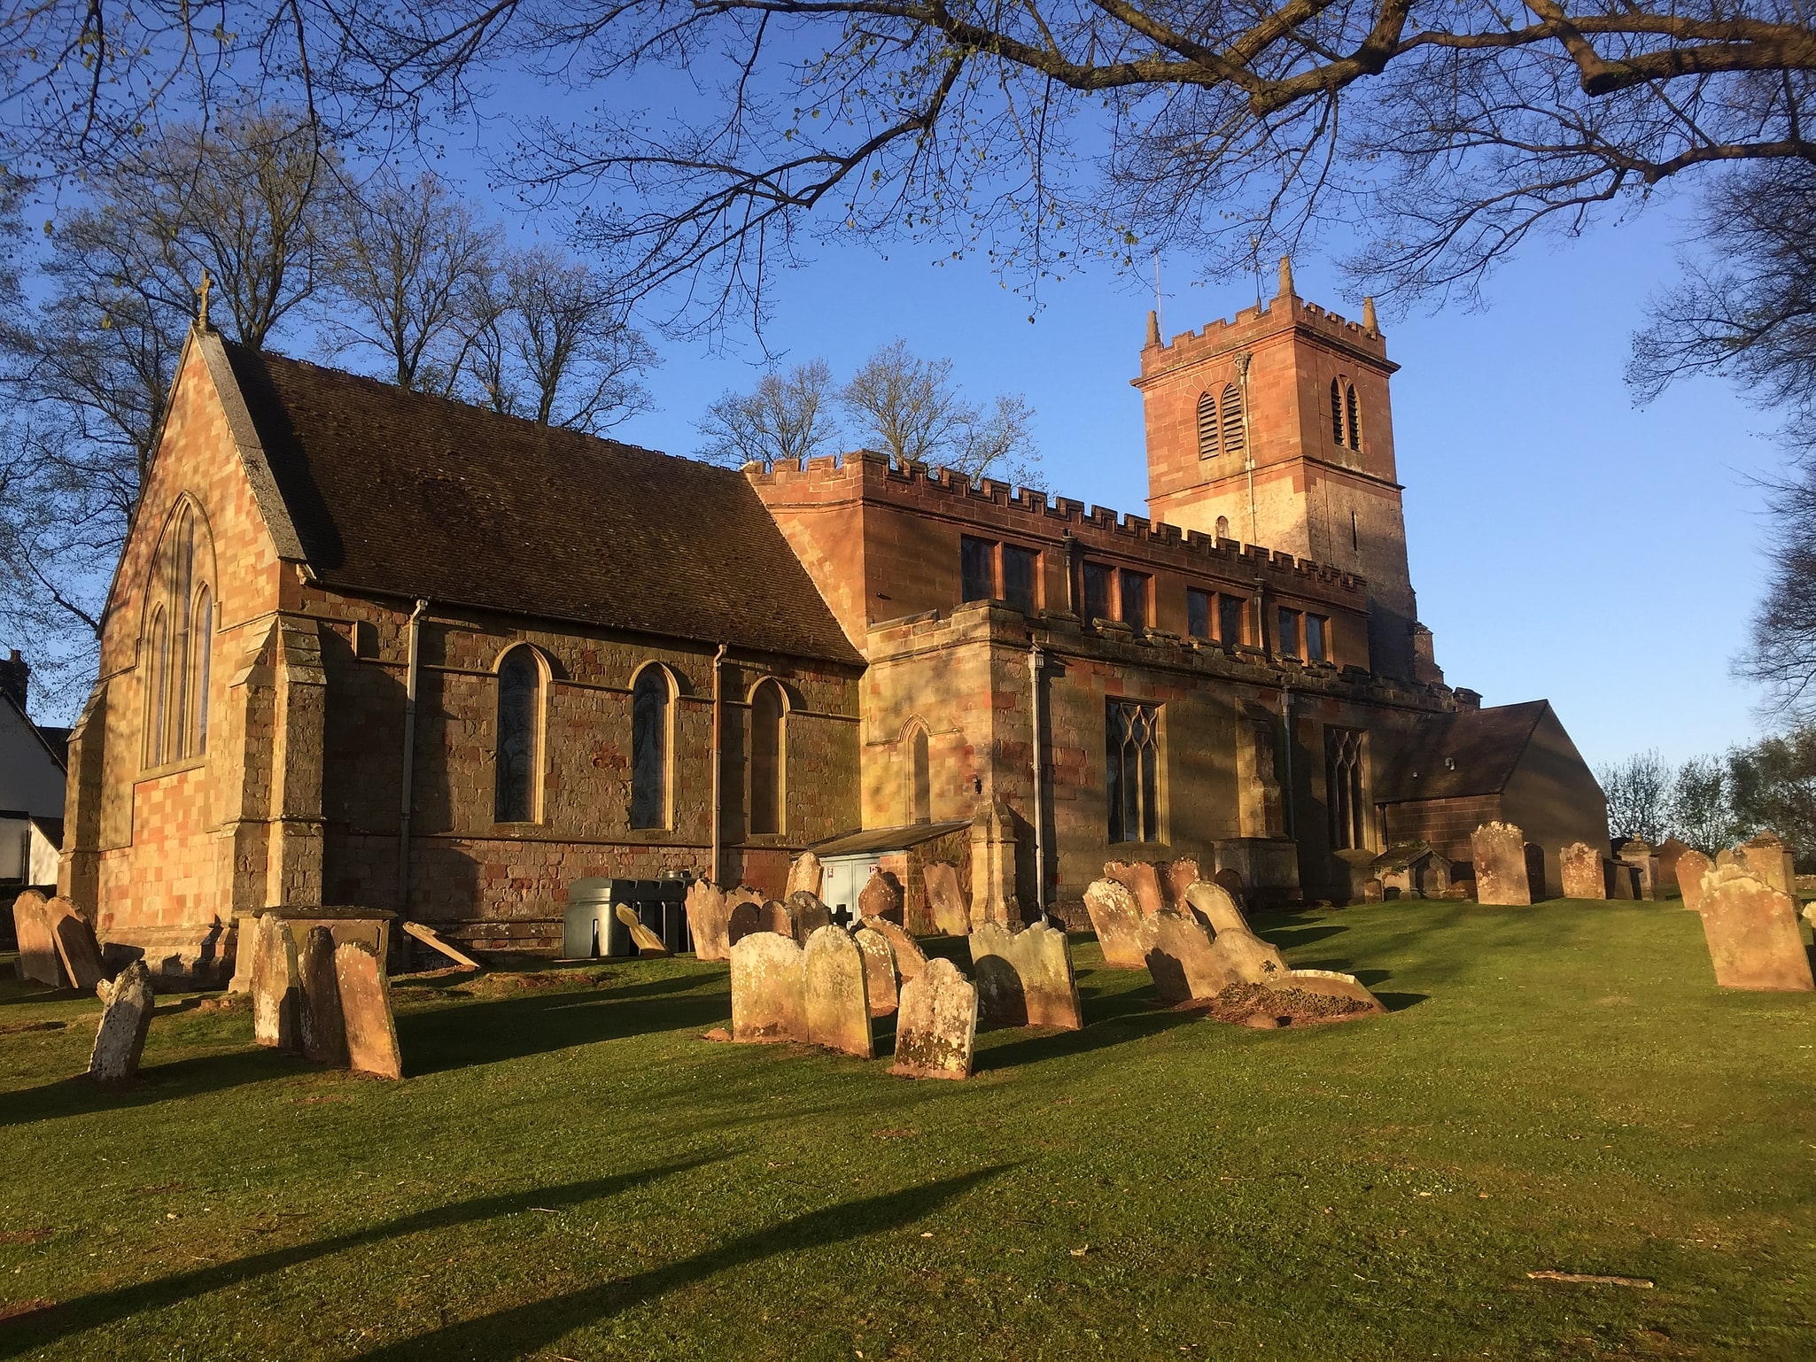
[[[443,1362],[452,1357],[523,1357],[588,1324],[608,1320],[632,1308],[661,1300],[708,1277],[763,1262],[783,1253],[824,1249],[848,1239],[886,1233],[913,1224],[979,1182],[997,1177],[1006,1166],[903,1188],[877,1197],[841,1202],[821,1211],[795,1215],[748,1235],[730,1239],[705,1253],[696,1253],[666,1268],[652,1268],[634,1277],[599,1282],[512,1309],[499,1309],[474,1320],[405,1338],[370,1353],[365,1362]]]

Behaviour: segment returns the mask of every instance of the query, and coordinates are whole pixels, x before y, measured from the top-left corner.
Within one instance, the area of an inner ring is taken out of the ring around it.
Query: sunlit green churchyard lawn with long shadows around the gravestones
[[[7,982],[0,1300],[56,1304],[0,1357],[1816,1357],[1816,999],[1674,904],[1258,926],[1395,1015],[1188,1019],[1086,941],[1084,1031],[908,1082],[648,961],[400,990],[403,1084],[167,1001],[107,1095],[98,1002]]]

